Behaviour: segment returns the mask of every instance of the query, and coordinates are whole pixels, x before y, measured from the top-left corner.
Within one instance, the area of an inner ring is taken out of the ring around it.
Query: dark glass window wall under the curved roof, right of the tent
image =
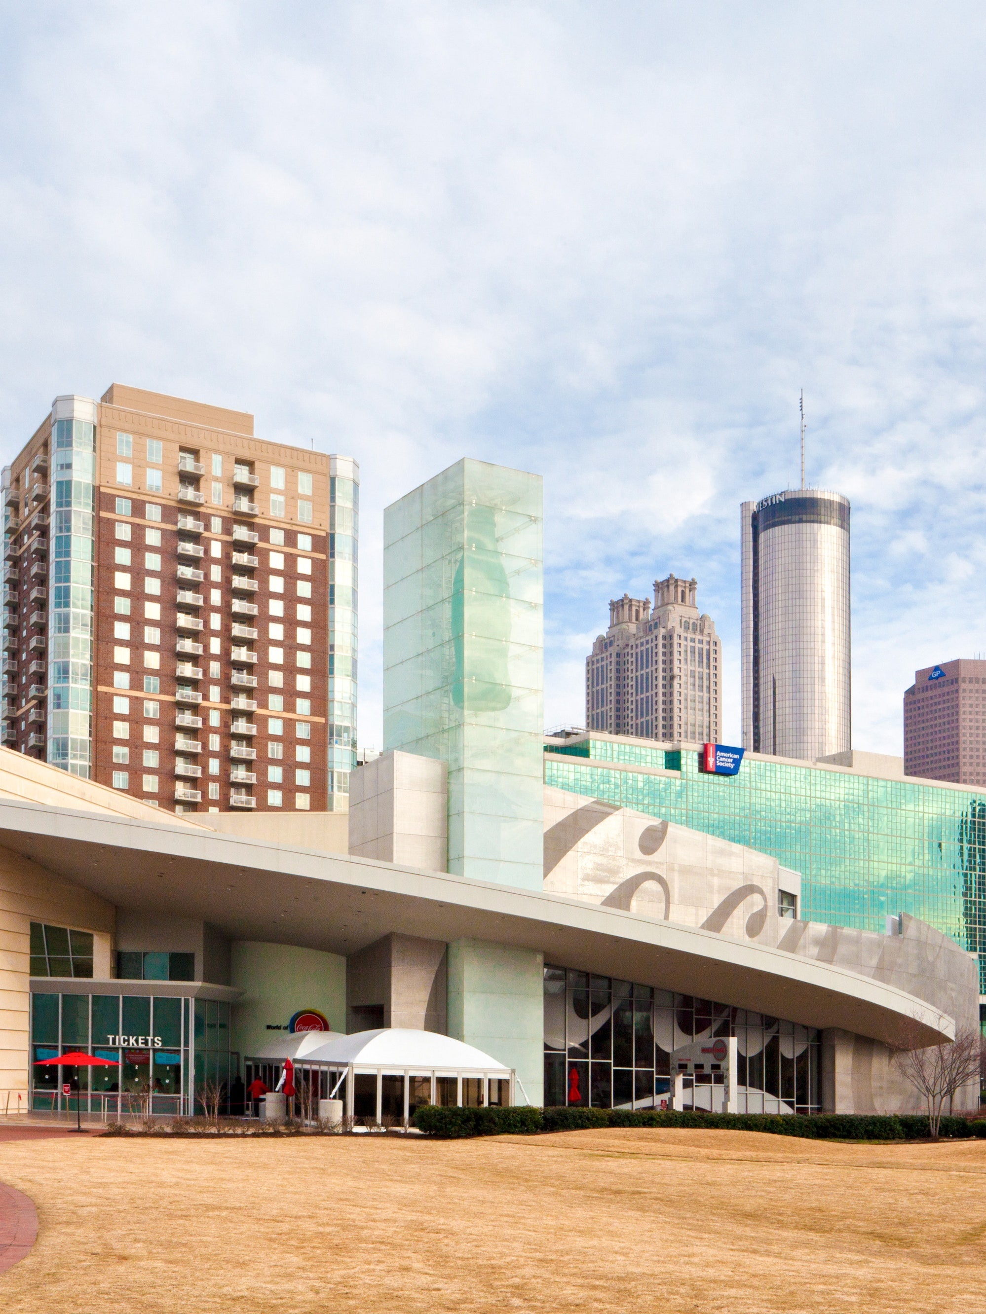
[[[716,1037],[736,1037],[740,1113],[820,1110],[818,1030],[692,995],[544,968],[546,1106],[661,1108],[672,1053]]]

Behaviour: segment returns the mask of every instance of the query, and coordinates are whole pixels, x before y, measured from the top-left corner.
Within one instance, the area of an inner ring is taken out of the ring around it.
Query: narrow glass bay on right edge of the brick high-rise
[[[346,811],[356,765],[359,465],[330,457],[329,811]]]

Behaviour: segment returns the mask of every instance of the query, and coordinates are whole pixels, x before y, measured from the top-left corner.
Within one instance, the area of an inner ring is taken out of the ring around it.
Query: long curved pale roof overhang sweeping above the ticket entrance
[[[390,932],[475,938],[886,1043],[954,1037],[924,1000],[845,967],[543,891],[8,799],[0,846],[117,907],[202,918],[230,940],[352,954]]]

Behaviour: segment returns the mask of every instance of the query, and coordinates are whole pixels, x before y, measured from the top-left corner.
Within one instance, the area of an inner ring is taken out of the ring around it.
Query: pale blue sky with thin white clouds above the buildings
[[[853,746],[986,654],[986,11],[0,3],[0,459],[113,381],[362,469],[544,477],[546,724],[695,576],[739,742],[739,505],[852,502]]]

